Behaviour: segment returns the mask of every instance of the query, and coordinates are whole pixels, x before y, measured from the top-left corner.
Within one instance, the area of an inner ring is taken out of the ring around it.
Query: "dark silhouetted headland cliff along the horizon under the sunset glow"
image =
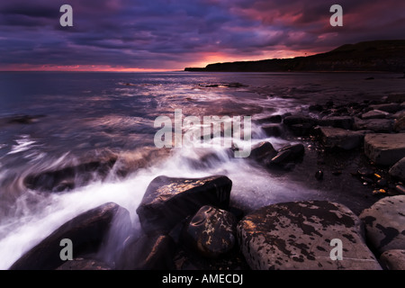
[[[375,40],[347,44],[308,57],[266,59],[186,67],[195,72],[287,72],[287,71],[405,71],[405,40]]]

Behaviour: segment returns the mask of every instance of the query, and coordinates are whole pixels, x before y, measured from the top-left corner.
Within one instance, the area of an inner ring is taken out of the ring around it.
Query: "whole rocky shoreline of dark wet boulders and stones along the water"
[[[129,211],[105,203],[69,220],[10,269],[404,268],[405,94],[363,103],[312,103],[300,113],[254,121],[268,136],[295,143],[282,148],[258,143],[247,163],[269,173],[302,174],[303,184],[335,185],[333,192],[339,191],[338,183],[362,186],[368,194],[354,193],[367,201],[353,204],[356,209],[348,207],[352,203],[310,199],[246,211],[231,205],[232,181],[226,175],[160,175],[149,184],[136,211],[141,235],[133,232]],[[321,155],[317,163],[323,163],[315,173],[302,173],[308,167],[300,164],[314,153]],[[355,157],[364,165],[352,170]],[[116,162],[116,157],[103,157],[78,169],[30,175],[25,184],[63,191],[69,187],[63,175],[70,179],[83,170],[106,175]],[[72,239],[72,261],[60,260],[62,238]],[[330,257],[333,239],[341,241],[340,260]]]

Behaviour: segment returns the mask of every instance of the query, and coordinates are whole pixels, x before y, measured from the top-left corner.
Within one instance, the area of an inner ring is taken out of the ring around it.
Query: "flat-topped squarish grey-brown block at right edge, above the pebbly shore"
[[[405,157],[405,133],[366,134],[365,155],[378,165],[392,166]]]

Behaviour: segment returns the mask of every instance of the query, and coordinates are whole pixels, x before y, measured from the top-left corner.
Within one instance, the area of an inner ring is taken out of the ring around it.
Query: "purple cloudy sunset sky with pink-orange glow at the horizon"
[[[73,26],[62,27],[62,4]],[[343,26],[329,19],[343,8]],[[404,0],[0,2],[0,70],[162,71],[405,39]]]

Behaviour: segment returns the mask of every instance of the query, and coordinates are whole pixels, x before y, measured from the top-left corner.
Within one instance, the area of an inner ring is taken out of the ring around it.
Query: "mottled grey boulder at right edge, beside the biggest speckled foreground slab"
[[[405,249],[405,195],[385,197],[360,214],[367,242],[378,252]]]

